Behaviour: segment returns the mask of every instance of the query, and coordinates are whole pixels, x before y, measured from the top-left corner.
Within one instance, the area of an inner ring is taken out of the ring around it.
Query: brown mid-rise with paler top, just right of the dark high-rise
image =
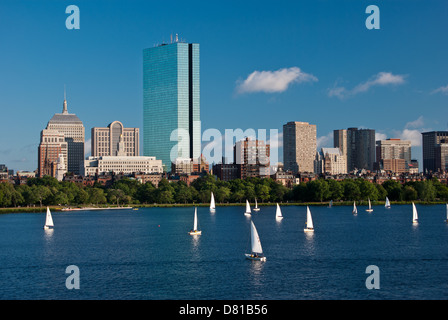
[[[389,161],[389,160],[403,160]],[[403,173],[409,171],[411,163],[411,141],[400,139],[378,140],[376,142],[375,169]]]

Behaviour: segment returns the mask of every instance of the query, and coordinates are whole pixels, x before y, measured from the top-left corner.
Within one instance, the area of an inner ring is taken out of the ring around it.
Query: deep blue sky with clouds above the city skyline
[[[79,30],[65,27],[71,4]],[[379,30],[365,27],[371,4]],[[448,130],[447,30],[444,0],[2,0],[0,163],[37,168],[64,84],[86,141],[114,120],[142,128],[142,51],[178,33],[201,46],[203,130],[306,121],[331,147],[334,129],[371,128],[411,139],[421,165],[420,132]]]

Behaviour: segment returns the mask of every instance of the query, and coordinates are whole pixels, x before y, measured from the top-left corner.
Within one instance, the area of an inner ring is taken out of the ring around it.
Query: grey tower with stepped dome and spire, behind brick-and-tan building
[[[67,170],[74,174],[79,174],[80,165],[84,162],[84,125],[75,114],[68,113],[65,97],[62,113],[56,113],[50,119],[47,129],[56,130],[64,134],[67,142]]]

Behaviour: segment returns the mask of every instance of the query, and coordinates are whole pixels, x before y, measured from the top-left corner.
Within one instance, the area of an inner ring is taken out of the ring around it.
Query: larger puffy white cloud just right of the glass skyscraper
[[[244,81],[238,81],[238,93],[283,92],[292,83],[314,82],[318,79],[298,67],[283,68],[277,71],[254,71]]]

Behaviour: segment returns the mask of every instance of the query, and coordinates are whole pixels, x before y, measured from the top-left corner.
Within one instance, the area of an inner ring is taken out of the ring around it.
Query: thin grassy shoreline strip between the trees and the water
[[[411,205],[412,202],[419,205],[443,205],[446,204],[445,201],[393,201],[391,205]],[[258,203],[258,207],[270,207],[275,206],[276,202],[268,202],[268,203]],[[385,201],[372,201],[372,206],[384,206]],[[220,203],[216,204],[216,207],[244,207],[245,203]],[[254,203],[251,203],[251,206],[254,206]],[[318,206],[318,207],[328,207],[329,202],[279,202],[280,206]],[[356,205],[358,206],[367,206],[368,201],[357,201]],[[76,211],[89,211],[89,210],[120,210],[120,209],[128,209],[132,210],[134,208],[182,208],[182,207],[209,207],[210,203],[156,203],[156,204],[127,204],[124,206],[86,206],[86,207],[62,207],[62,206],[48,206],[51,211],[54,212],[76,212]],[[341,202],[333,202],[333,207],[338,206],[353,206],[353,201],[341,201]],[[70,210],[67,210],[70,208]],[[47,206],[42,207],[12,207],[12,208],[0,208],[0,214],[7,213],[42,213],[47,210]]]

